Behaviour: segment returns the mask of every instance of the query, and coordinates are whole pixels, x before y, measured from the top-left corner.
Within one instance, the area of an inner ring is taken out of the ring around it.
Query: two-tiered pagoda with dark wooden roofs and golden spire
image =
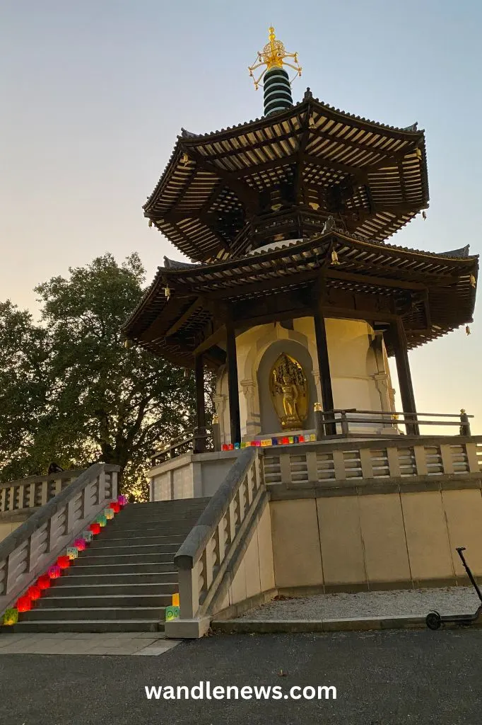
[[[472,320],[478,274],[468,247],[388,241],[425,217],[425,134],[350,115],[309,88],[294,104],[289,73],[301,68],[273,28],[249,70],[263,83],[263,117],[182,129],[145,203],[149,225],[191,261],[164,258],[124,335],[195,370],[195,452],[206,442],[206,367],[217,447],[344,435],[334,412],[346,410],[359,413],[360,435],[416,436],[408,351]]]

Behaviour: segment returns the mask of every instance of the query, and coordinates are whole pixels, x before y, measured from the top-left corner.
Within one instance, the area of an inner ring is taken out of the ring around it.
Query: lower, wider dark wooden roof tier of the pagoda
[[[331,261],[334,250],[339,264]],[[247,310],[253,301],[257,309],[266,297],[286,297],[323,276],[327,317],[350,318],[357,301],[365,305],[360,299],[371,296],[366,318],[383,320],[387,311],[401,315],[413,349],[472,320],[477,273],[478,257],[469,256],[468,247],[434,254],[326,229],[313,239],[238,260],[191,265],[166,260],[123,332],[154,354],[191,367],[193,351],[216,328],[222,305]],[[208,363],[216,367],[219,360]]]

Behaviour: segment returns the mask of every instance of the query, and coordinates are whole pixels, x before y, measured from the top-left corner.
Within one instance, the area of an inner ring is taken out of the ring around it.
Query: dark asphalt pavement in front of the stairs
[[[481,647],[482,630],[457,629],[218,635],[143,658],[5,654],[0,723],[480,725]],[[230,700],[212,694],[211,700],[148,700],[145,695],[146,685],[191,688],[201,681],[211,683],[211,693],[216,686],[265,685],[281,687],[282,696],[236,700],[232,691]],[[317,692],[323,685],[336,687],[336,700],[284,697],[291,687]]]

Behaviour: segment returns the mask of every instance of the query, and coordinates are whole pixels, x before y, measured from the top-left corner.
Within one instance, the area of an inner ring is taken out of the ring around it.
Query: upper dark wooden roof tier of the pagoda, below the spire
[[[246,230],[274,213],[305,210],[320,225],[335,215],[347,231],[384,241],[427,206],[423,130],[349,115],[308,90],[286,112],[183,131],[144,210],[181,252],[206,262],[258,246]]]

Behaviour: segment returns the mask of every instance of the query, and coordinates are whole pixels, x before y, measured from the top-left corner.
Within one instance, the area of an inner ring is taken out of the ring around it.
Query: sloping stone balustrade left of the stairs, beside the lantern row
[[[0,613],[117,497],[119,470],[90,466],[0,543]]]

